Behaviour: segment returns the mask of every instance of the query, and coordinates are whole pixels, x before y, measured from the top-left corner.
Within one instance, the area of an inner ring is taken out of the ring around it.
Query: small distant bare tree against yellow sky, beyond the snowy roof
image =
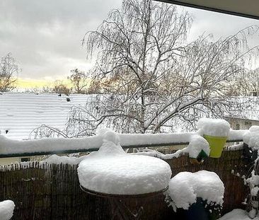
[[[75,93],[85,94],[87,93],[87,86],[89,79],[84,71],[79,69],[71,70],[71,76],[68,77],[73,85]]]

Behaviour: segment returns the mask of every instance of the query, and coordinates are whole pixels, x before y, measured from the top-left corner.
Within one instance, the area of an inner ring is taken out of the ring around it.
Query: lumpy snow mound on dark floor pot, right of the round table
[[[216,173],[200,170],[197,173],[181,172],[169,182],[168,195],[171,197],[173,209],[188,209],[201,197],[207,204],[222,205],[224,184]]]

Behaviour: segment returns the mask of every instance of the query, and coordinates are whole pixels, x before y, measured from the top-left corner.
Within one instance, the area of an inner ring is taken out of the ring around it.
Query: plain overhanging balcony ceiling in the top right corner
[[[259,1],[258,0],[156,0],[188,6],[192,8],[200,8],[207,11],[216,11],[227,13],[234,16],[242,16],[246,18],[259,19]]]

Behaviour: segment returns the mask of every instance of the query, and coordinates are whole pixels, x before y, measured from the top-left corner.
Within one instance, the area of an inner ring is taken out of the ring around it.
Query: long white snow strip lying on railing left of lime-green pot
[[[105,129],[103,129],[105,130]],[[143,147],[146,145],[188,143],[192,135],[190,133],[175,134],[118,134],[121,146]],[[47,151],[87,150],[99,149],[105,137],[101,132],[93,137],[84,138],[43,138],[34,140],[13,140],[0,135],[0,154],[20,154]]]

